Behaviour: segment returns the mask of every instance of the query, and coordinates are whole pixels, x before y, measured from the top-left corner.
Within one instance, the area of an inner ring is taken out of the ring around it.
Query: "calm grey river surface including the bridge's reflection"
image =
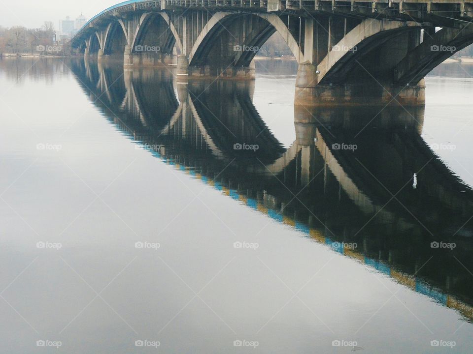
[[[384,109],[296,69],[1,60],[0,352],[472,353],[473,66]]]

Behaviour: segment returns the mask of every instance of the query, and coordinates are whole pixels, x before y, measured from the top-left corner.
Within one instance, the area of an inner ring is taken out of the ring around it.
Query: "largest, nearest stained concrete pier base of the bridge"
[[[300,64],[295,105],[303,106],[420,106],[425,105],[425,82],[400,86],[389,83],[317,84],[316,67]]]

